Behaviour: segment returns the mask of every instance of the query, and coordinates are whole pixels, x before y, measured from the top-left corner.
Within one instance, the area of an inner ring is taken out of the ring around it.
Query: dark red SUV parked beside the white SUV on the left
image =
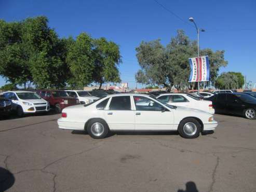
[[[50,103],[50,106],[55,109],[56,113],[61,113],[62,109],[79,104],[79,100],[72,98],[66,91],[62,90],[37,90],[36,91],[43,99]]]

